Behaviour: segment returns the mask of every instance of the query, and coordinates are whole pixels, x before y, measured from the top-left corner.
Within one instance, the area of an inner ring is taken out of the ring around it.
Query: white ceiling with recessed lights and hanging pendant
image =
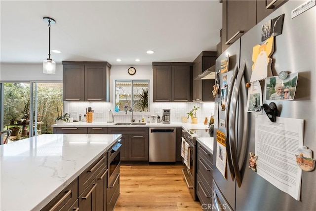
[[[1,63],[108,61],[112,65],[193,62],[216,51],[222,28],[219,0],[1,0]],[[147,54],[147,50],[154,54]],[[116,59],[120,58],[121,62]],[[135,59],[140,62],[135,62]]]

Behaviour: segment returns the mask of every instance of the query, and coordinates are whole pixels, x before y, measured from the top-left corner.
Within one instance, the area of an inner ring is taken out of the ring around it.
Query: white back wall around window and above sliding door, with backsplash
[[[150,112],[137,112],[135,115],[136,121],[141,120],[144,115],[147,119],[150,115],[162,114],[163,108],[171,109],[171,122],[181,122],[181,116],[187,116],[193,106],[200,106],[197,110],[198,122],[202,123],[207,117],[209,119],[211,114],[214,114],[213,102],[202,103],[175,103],[175,102],[153,102],[153,68],[152,66],[136,66],[136,74],[130,76],[127,69],[131,66],[112,66],[111,68],[111,89],[110,102],[64,102],[64,112],[73,113],[79,116],[85,113],[85,108],[92,107],[94,109],[93,120],[95,122],[108,121],[108,111],[114,110],[114,80],[149,80],[150,81]],[[47,75],[42,73],[42,64],[1,64],[0,65],[0,82],[7,81],[62,81],[62,65],[56,64],[56,74]],[[210,92],[211,94],[211,92]],[[130,120],[130,114],[115,113],[115,122],[126,122]],[[188,120],[190,122],[190,119]]]

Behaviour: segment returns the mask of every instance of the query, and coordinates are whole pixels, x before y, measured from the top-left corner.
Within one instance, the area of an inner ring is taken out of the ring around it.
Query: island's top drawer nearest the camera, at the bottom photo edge
[[[42,211],[68,211],[78,198],[78,178],[51,200]],[[77,206],[78,207],[78,206]]]

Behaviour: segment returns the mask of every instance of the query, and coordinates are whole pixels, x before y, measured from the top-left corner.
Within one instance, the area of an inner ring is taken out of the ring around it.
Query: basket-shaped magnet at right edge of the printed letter
[[[295,155],[297,165],[305,171],[312,171],[315,169],[316,159],[312,158],[312,150],[303,146],[298,149],[299,155]]]

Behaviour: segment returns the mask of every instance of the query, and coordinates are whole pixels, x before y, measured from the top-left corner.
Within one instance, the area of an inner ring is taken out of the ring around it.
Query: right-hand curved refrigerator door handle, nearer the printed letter
[[[238,100],[238,96],[239,96],[239,90],[240,90],[240,85],[241,85],[241,81],[243,78],[243,73],[245,70],[245,61],[242,60],[241,64],[240,64],[240,69],[237,75],[237,79],[236,82],[234,84],[234,88],[233,88],[233,92],[232,92],[232,96],[231,96],[231,112],[229,112],[229,145],[230,145],[230,150],[231,150],[231,156],[232,156],[232,163],[233,163],[233,167],[234,167],[234,171],[235,171],[235,175],[236,175],[236,181],[237,181],[237,185],[238,187],[241,186],[241,174],[240,174],[240,169],[238,166],[238,160],[237,160],[237,148],[236,148],[236,137],[237,137],[237,133],[236,133],[236,113],[237,113],[237,100]],[[240,108],[243,109],[243,108]],[[239,140],[239,141],[243,141],[243,140]]]

